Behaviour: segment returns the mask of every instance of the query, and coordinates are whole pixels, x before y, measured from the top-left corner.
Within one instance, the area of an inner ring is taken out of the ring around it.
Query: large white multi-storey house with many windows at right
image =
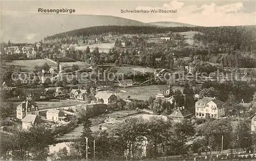
[[[223,102],[215,97],[204,97],[195,103],[195,113],[197,118],[220,118],[225,115],[225,110],[221,107]]]

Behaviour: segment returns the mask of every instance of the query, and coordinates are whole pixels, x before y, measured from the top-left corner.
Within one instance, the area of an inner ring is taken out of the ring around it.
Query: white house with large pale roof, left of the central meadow
[[[117,96],[113,93],[98,92],[95,95],[97,102],[102,102],[108,105],[108,108],[114,108],[116,106]]]

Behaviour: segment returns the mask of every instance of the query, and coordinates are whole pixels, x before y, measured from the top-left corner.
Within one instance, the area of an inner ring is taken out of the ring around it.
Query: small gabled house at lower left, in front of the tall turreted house
[[[38,115],[28,114],[25,118],[22,119],[22,128],[29,129],[33,125],[39,124],[42,120]]]

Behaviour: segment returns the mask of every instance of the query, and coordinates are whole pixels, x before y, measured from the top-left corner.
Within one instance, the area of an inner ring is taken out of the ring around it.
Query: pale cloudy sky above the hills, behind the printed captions
[[[111,15],[141,22],[173,21],[201,26],[255,25],[256,1],[1,1],[1,14],[25,19],[44,9],[75,9],[72,14]],[[177,10],[177,13],[121,13],[123,10]],[[2,16],[1,16],[2,17]],[[5,23],[1,20],[1,23]],[[8,22],[9,23],[9,22]],[[10,24],[11,25],[11,24]],[[34,24],[38,25],[38,24]],[[1,27],[2,29],[2,27]],[[17,30],[18,27],[17,27]],[[21,30],[21,29],[20,29]],[[3,32],[1,30],[1,37]],[[33,35],[31,35],[33,37]],[[29,39],[29,37],[28,37]]]

